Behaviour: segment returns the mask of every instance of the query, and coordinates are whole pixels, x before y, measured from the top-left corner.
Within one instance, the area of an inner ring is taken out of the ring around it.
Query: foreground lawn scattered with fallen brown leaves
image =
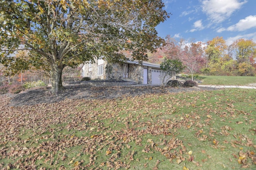
[[[256,90],[10,107],[1,169],[256,169]]]

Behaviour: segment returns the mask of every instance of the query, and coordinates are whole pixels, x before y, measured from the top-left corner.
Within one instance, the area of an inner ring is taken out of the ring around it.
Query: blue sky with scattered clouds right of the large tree
[[[223,37],[256,42],[256,0],[163,0],[172,15],[156,27],[160,37],[207,42]]]

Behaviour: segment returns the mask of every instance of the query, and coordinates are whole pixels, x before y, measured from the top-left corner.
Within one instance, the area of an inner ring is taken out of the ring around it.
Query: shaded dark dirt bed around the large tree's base
[[[29,89],[19,94],[2,94],[9,96],[10,106],[36,105],[55,103],[64,99],[114,99],[144,94],[165,94],[200,90],[217,90],[210,87],[171,88],[160,86],[66,86],[64,92],[52,95],[50,87]]]

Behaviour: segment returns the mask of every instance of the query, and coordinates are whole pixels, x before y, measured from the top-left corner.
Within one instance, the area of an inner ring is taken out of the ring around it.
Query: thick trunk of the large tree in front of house
[[[62,86],[62,70],[64,66],[58,66],[57,64],[52,64],[51,70],[51,84],[52,94],[57,94],[58,92],[62,92],[64,87]]]

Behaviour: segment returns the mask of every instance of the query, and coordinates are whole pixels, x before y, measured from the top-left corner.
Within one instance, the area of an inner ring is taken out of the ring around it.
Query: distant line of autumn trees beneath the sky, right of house
[[[149,53],[150,62],[162,63],[164,59],[182,61],[187,74],[255,76],[256,43],[238,39],[226,45],[223,37],[215,37],[207,43],[176,41],[167,36],[166,45],[156,53]]]

